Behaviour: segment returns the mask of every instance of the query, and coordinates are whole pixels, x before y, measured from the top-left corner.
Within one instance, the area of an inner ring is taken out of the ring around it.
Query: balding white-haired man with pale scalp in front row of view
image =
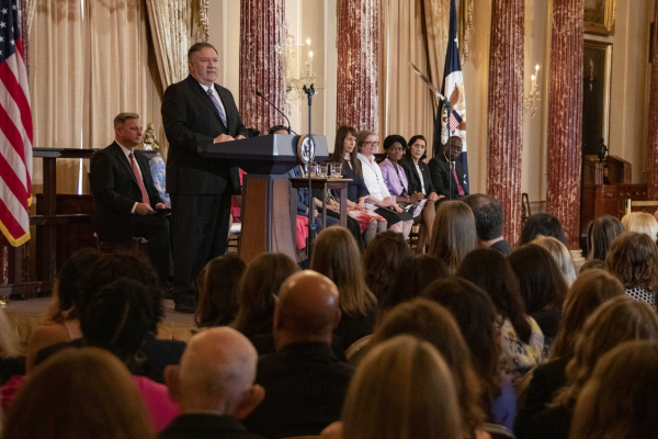
[[[160,439],[259,439],[239,419],[264,398],[254,385],[258,353],[235,329],[209,328],[188,342],[181,364],[164,372],[169,395],[181,414]]]

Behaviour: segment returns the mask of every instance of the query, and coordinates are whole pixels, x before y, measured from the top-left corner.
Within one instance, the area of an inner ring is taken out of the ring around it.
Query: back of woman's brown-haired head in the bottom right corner
[[[570,438],[655,437],[657,375],[656,341],[626,341],[608,352],[578,397]]]

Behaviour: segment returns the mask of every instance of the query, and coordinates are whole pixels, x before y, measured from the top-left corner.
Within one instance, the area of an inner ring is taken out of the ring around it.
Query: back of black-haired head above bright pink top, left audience
[[[146,341],[152,315],[147,288],[132,279],[120,278],[89,297],[80,315],[82,338],[88,345],[109,350],[128,363]]]

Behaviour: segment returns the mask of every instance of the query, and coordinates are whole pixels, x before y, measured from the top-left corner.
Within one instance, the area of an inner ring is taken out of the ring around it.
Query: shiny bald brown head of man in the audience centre
[[[281,348],[292,342],[331,342],[340,322],[338,288],[313,270],[291,275],[281,285],[274,312],[274,338]]]

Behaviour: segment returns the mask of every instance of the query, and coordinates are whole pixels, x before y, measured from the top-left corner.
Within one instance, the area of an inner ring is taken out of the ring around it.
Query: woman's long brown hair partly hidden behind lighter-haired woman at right
[[[576,339],[587,318],[602,303],[621,295],[624,295],[624,285],[609,272],[591,269],[580,274],[567,294],[551,357],[572,357]]]

